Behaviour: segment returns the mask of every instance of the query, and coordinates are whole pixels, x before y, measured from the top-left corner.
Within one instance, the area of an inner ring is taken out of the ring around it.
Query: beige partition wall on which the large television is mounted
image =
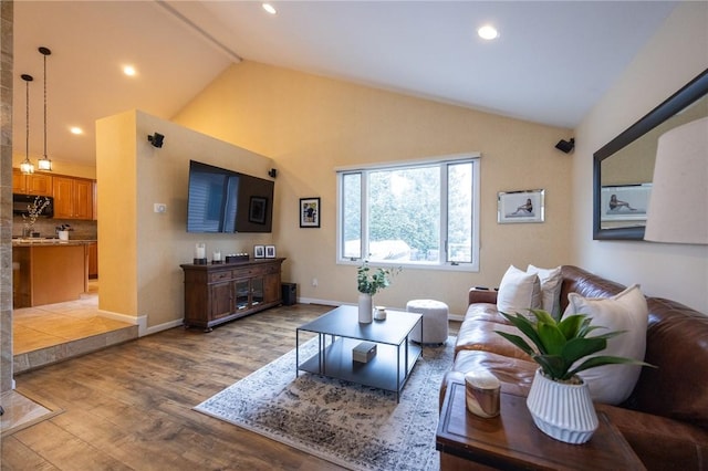
[[[147,142],[155,132],[165,136],[162,148]],[[187,233],[189,159],[256,176],[266,176],[273,164],[135,111],[100,119],[96,138],[98,307],[139,320],[142,334],[178,325],[184,316],[179,264],[191,263],[197,242],[206,242],[207,253],[219,249],[226,254],[272,241],[271,234]],[[156,202],[166,203],[167,212],[154,212]]]

